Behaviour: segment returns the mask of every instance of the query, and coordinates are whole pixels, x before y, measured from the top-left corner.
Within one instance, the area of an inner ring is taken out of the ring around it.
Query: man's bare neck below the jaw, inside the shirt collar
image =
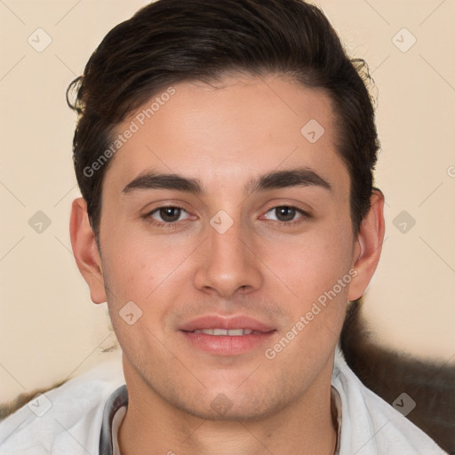
[[[200,419],[181,411],[126,370],[129,404],[118,431],[122,455],[332,455],[337,443],[332,360],[295,402],[263,419],[243,421]]]

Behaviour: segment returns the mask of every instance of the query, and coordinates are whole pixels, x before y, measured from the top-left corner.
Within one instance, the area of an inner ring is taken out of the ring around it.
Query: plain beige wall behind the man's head
[[[0,2],[0,401],[80,374],[115,345],[106,304],[92,304],[69,243],[79,193],[65,89],[108,30],[144,4]],[[369,62],[379,93],[377,184],[387,197],[387,240],[366,314],[378,342],[453,362],[455,2],[317,4],[351,55]],[[36,33],[45,43],[36,28],[52,38],[43,52],[28,44]],[[416,43],[402,52],[412,36]],[[52,221],[41,234],[28,225],[37,211]],[[416,221],[406,233],[403,220],[394,224],[403,211]]]

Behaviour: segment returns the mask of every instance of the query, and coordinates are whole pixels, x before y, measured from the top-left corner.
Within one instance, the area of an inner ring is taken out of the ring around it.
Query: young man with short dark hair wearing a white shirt
[[[159,0],[109,32],[73,84],[70,230],[123,371],[14,413],[2,453],[444,453],[338,347],[384,236],[361,63],[299,0]]]

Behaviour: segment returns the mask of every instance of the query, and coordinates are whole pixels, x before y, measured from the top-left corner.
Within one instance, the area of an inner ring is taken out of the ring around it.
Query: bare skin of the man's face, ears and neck
[[[334,146],[336,119],[323,92],[275,75],[231,75],[216,87],[186,82],[174,89],[109,165],[100,251],[84,199],[72,207],[77,265],[93,302],[108,301],[123,349],[130,401],[119,430],[121,451],[331,454],[334,350],[347,301],[363,294],[379,260],[383,196],[371,196],[371,210],[354,235],[349,175]],[[325,131],[315,143],[300,133],[311,119]],[[267,172],[298,167],[316,172],[331,189],[245,190]],[[123,191],[152,169],[198,179],[205,192]],[[164,205],[184,208],[180,218],[173,212],[173,224],[154,212]],[[283,218],[275,210],[283,206],[308,215]],[[210,224],[220,210],[234,222],[224,234]],[[353,269],[351,283],[267,359],[265,349]],[[128,301],[142,311],[132,325],[119,315]],[[276,331],[246,354],[215,355],[179,331],[201,315],[248,315]],[[222,414],[211,406],[220,394],[230,405]]]

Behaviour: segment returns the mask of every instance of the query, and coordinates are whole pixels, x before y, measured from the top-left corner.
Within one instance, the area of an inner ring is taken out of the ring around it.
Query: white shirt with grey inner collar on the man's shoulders
[[[331,385],[338,392],[339,455],[447,455],[364,387],[339,348]],[[113,454],[111,444],[118,451],[116,431],[127,404],[122,386],[122,363],[111,361],[38,396],[0,421],[0,455]],[[107,449],[100,452],[101,427]]]

